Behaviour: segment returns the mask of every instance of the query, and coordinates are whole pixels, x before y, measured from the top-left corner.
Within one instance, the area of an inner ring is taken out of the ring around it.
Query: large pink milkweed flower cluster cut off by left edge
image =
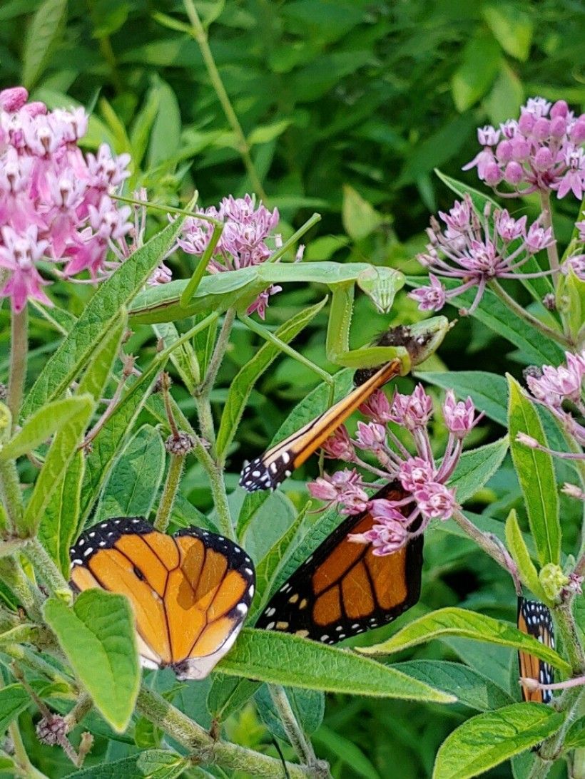
[[[22,86],[0,92],[0,296],[20,312],[33,299],[51,305],[39,272],[56,277],[108,271],[108,249],[131,229],[130,209],[110,197],[129,176],[130,157],[103,145],[83,155],[83,108],[48,111]],[[2,273],[2,270],[4,273]]]

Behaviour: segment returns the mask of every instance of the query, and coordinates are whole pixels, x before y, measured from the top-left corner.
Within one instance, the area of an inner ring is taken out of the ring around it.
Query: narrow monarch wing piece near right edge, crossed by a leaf
[[[555,628],[552,624],[551,612],[541,601],[527,601],[526,598],[518,598],[518,629],[522,633],[534,636],[544,646],[555,648]],[[518,666],[520,677],[534,679],[540,684],[552,684],[554,675],[551,666],[544,660],[534,657],[528,652],[518,653]],[[537,703],[550,703],[552,693],[550,689],[531,690],[521,685],[523,700],[536,701]]]

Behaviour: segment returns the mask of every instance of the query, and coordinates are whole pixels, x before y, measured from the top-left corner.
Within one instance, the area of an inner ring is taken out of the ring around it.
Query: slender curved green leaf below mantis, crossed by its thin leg
[[[324,298],[320,303],[304,308],[291,317],[289,322],[280,326],[276,330],[275,336],[284,341],[285,344],[288,344],[314,319],[326,302],[327,298]],[[234,435],[236,435],[239,421],[242,418],[246,402],[250,397],[254,384],[279,354],[281,354],[281,351],[278,346],[268,341],[258,349],[250,362],[244,365],[236,375],[236,378],[233,379],[229,387],[228,398],[225,401],[215,445],[218,456],[222,456],[227,451]]]

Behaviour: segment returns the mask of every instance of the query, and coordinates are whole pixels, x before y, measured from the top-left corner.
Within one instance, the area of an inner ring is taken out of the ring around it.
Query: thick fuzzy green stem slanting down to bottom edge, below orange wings
[[[253,777],[282,779],[283,766],[280,760],[236,744],[216,741],[204,728],[144,685],[138,693],[137,710],[147,720],[189,749],[193,757],[201,763],[216,764],[232,771],[246,771]],[[314,772],[308,767],[294,763],[286,763],[286,770],[291,779],[314,776]]]

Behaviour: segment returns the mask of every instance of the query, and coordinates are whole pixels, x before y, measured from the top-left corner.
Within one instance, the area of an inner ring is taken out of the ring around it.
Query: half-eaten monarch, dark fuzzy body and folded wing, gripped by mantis
[[[417,354],[424,348],[431,333],[414,335],[410,327],[399,326],[382,333],[378,346],[405,347],[411,360],[416,362]],[[332,435],[339,425],[356,411],[371,395],[395,376],[404,371],[399,358],[378,368],[365,368],[356,371],[353,382],[355,389],[334,406],[319,414],[303,428],[287,439],[272,446],[263,455],[244,465],[239,485],[248,492],[261,489],[275,489],[285,478],[300,467],[321,444]]]

